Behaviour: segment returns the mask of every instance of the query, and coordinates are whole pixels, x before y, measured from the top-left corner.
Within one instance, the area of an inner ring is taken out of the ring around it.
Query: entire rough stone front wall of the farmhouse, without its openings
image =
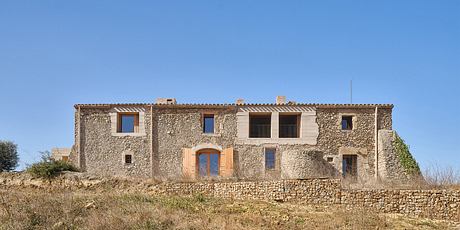
[[[276,107],[276,111],[286,109],[285,107]],[[309,121],[315,124],[314,133],[317,134],[314,135],[315,138],[317,136],[317,141],[310,141],[312,144],[296,142],[296,138],[287,138],[283,142],[279,142],[278,139],[281,138],[278,138],[268,142],[241,143],[237,139],[238,107],[231,105],[184,107],[110,105],[100,108],[82,108],[80,112],[77,109],[75,145],[72,148],[71,160],[83,171],[95,175],[181,180],[184,176],[184,150],[208,145],[217,146],[219,149],[233,148],[234,168],[231,177],[243,180],[337,176],[342,173],[341,162],[344,154],[357,154],[358,176],[373,178],[374,109],[313,108],[312,106],[296,106],[296,108],[308,110],[315,118],[313,119],[315,121]],[[115,133],[114,135],[114,127],[116,127],[114,111],[118,110],[142,110],[140,122],[145,134]],[[205,134],[202,131],[204,113],[215,115],[213,134]],[[340,127],[341,115],[344,114],[355,116],[354,129],[351,131],[344,131]],[[378,122],[380,129],[391,129],[391,108],[379,109]],[[265,148],[276,149],[274,170],[265,169]],[[80,151],[79,155],[76,154],[78,151]],[[304,154],[307,152],[315,152],[315,157]],[[132,154],[132,164],[124,164],[124,154]],[[326,162],[327,158],[332,161]],[[300,161],[303,163],[299,163]],[[318,165],[324,166],[320,167],[321,170],[324,168],[330,170],[328,173],[317,172]]]

